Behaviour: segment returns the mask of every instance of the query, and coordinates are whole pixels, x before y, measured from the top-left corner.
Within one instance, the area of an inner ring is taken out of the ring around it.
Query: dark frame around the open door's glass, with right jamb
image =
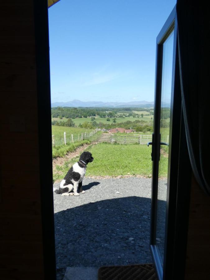
[[[169,163],[166,198],[166,227],[163,268],[156,247],[156,218],[158,193],[158,167],[160,157],[160,115],[163,43],[174,29],[174,49],[171,86],[169,135]],[[152,194],[150,250],[159,279],[184,279],[186,243],[189,218],[191,167],[187,150],[181,104],[179,54],[176,6],[170,13],[156,40],[155,111],[152,140]],[[173,110],[175,108],[175,110]],[[173,122],[174,120],[174,122]],[[184,168],[181,168],[183,166]],[[184,169],[184,171],[183,171]],[[184,182],[184,189],[183,189]],[[185,203],[183,201],[185,198]],[[180,227],[182,225],[182,227]],[[179,271],[177,278],[176,271]],[[180,275],[181,272],[181,275]],[[176,276],[176,277],[175,277]]]

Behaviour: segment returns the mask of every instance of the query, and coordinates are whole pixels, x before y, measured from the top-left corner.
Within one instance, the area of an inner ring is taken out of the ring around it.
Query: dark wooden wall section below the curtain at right
[[[208,280],[210,262],[210,197],[192,179],[185,280]]]

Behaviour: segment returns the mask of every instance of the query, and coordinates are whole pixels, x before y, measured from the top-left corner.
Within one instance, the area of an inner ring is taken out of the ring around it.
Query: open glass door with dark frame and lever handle
[[[157,36],[150,248],[159,279],[172,279],[181,97],[175,8]]]

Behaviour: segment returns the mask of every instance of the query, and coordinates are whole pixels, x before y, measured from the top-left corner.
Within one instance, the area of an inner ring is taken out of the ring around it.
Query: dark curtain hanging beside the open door
[[[210,20],[206,3],[178,0],[176,11],[189,157],[198,184],[210,195]]]

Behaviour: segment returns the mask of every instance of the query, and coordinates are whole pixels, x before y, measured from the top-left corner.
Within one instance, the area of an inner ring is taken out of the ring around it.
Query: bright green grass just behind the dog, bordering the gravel
[[[151,146],[100,143],[90,145],[86,150],[90,151],[94,157],[94,161],[88,164],[86,176],[130,174],[151,177]],[[57,171],[54,172],[54,180],[63,179],[69,167],[78,159],[79,157],[76,157],[67,161],[63,166],[57,166]],[[162,159],[161,176],[167,175],[167,161],[167,157]]]

